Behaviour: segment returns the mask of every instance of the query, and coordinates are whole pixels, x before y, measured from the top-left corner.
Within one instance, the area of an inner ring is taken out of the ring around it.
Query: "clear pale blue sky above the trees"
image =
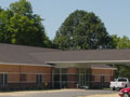
[[[0,6],[9,8],[17,0],[0,0]],[[130,38],[130,0],[28,0],[35,14],[44,20],[46,32],[53,39],[56,30],[76,10],[94,12],[104,23],[109,34]]]

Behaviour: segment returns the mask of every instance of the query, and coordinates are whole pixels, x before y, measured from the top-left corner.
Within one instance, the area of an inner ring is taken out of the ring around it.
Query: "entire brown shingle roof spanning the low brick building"
[[[0,43],[0,63],[38,64],[46,61],[130,60],[130,50],[58,51]]]

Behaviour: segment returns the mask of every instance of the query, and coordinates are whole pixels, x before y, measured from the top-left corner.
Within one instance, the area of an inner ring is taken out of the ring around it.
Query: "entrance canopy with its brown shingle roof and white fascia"
[[[47,53],[46,64],[54,65],[130,65],[130,50],[87,50]]]

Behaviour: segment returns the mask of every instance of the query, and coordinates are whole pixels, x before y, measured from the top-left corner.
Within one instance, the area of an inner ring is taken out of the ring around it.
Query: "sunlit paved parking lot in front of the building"
[[[0,97],[77,97],[88,96],[96,94],[113,94],[113,91],[94,91],[94,89],[62,89],[51,92],[18,92],[18,93],[5,93],[1,94]]]

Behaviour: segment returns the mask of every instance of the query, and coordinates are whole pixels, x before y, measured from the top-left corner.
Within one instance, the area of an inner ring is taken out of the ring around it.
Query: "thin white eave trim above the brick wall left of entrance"
[[[14,66],[46,66],[46,67],[53,67],[51,65],[39,65],[39,64],[15,64],[15,63],[0,63],[0,65],[14,65]]]

